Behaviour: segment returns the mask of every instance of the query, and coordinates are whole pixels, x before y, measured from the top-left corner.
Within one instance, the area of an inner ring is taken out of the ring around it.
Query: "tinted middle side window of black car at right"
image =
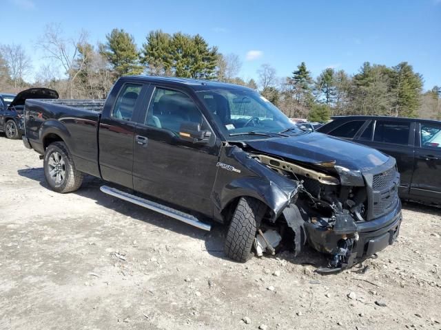
[[[410,131],[411,122],[377,120],[373,141],[407,145]]]

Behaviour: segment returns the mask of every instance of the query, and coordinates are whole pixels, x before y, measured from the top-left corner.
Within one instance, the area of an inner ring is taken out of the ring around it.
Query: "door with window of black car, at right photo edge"
[[[420,124],[411,194],[441,195],[441,125]]]

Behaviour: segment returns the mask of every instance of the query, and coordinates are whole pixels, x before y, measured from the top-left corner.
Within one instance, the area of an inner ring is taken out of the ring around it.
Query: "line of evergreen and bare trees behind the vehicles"
[[[88,32],[67,37],[60,25],[47,25],[35,47],[45,61],[32,83],[32,61],[22,45],[0,45],[0,91],[39,86],[64,98],[104,98],[120,76],[150,74],[218,80],[259,91],[290,118],[326,121],[331,115],[391,115],[441,120],[441,87],[423,91],[423,77],[407,62],[393,67],[363,63],[348,74],[331,67],[317,77],[305,62],[288,77],[263,64],[257,79],[239,76],[237,54],[222,54],[200,34],[151,31],[138,47],[134,37],[114,29],[104,43],[92,45]]]

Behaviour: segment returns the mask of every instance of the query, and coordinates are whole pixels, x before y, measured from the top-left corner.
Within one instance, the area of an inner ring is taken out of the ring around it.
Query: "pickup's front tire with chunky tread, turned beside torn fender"
[[[245,263],[253,254],[254,237],[266,206],[252,197],[241,197],[225,238],[224,252],[229,259]]]

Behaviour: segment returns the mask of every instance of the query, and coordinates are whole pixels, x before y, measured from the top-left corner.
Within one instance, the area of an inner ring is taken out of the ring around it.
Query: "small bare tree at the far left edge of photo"
[[[25,49],[21,45],[2,45],[0,51],[8,67],[14,88],[22,87],[24,77],[32,70],[30,57],[26,54]]]

